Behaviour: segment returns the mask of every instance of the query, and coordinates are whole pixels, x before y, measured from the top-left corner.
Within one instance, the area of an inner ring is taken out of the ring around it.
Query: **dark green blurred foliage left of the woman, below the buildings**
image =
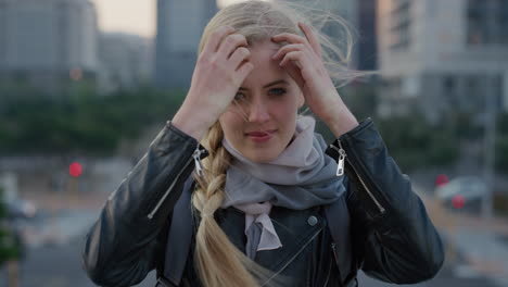
[[[77,86],[66,98],[8,98],[0,110],[0,153],[110,153],[120,139],[172,118],[183,97],[151,88],[101,96]]]

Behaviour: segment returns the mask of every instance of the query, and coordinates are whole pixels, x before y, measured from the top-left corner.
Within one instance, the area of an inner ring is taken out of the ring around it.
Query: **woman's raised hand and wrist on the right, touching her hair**
[[[274,54],[280,66],[296,82],[305,102],[336,135],[348,132],[358,122],[342,101],[321,58],[321,47],[310,27],[299,23],[305,37],[282,33],[271,38],[274,42],[287,41]],[[340,125],[340,127],[336,127]],[[332,127],[334,126],[334,127]],[[334,130],[340,129],[340,130]],[[335,133],[336,132],[336,133]]]

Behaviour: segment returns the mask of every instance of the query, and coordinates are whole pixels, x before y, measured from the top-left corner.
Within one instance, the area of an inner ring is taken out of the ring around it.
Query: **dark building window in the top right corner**
[[[508,1],[468,0],[467,43],[508,45]]]

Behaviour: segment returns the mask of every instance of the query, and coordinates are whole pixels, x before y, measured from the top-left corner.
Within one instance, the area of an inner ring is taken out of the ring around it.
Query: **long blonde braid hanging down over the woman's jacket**
[[[259,286],[252,267],[253,262],[238,250],[214,219],[214,213],[223,203],[226,171],[231,155],[221,145],[223,130],[216,123],[203,140],[209,155],[203,160],[204,176],[195,176],[198,188],[193,194],[193,205],[201,212],[201,223],[196,234],[195,266],[204,286]],[[249,267],[251,266],[251,267]]]

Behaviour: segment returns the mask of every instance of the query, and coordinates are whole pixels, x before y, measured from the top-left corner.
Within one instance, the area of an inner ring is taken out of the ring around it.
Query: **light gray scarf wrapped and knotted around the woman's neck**
[[[268,216],[271,205],[305,210],[332,203],[345,191],[343,177],[335,176],[336,162],[325,153],[322,137],[314,133],[315,124],[310,116],[300,117],[293,141],[268,163],[252,162],[223,140],[233,161],[227,171],[221,208],[245,212],[250,258],[257,250],[281,246]]]

